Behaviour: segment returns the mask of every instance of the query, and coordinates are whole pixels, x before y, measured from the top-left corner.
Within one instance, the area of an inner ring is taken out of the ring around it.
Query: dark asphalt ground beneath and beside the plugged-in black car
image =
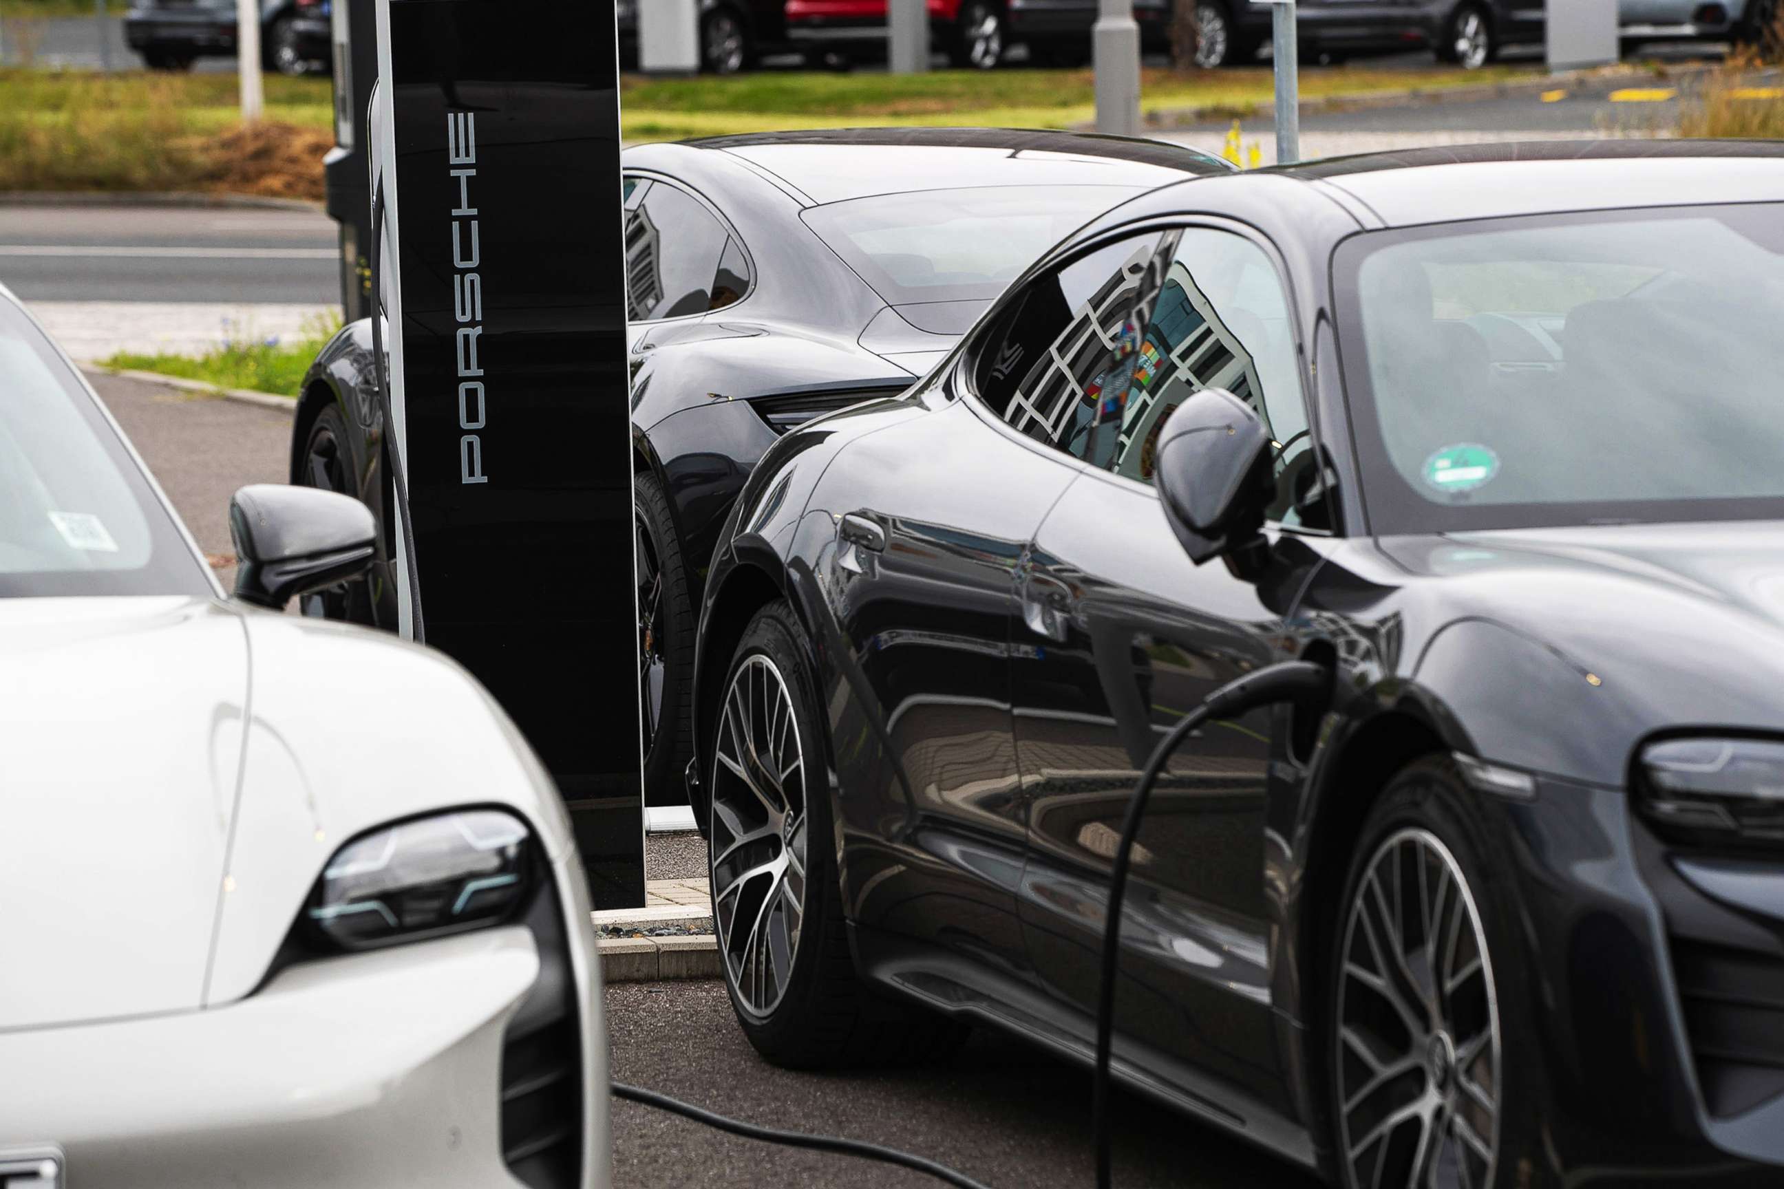
[[[731,1118],[849,1136],[940,1160],[995,1189],[1092,1184],[1090,1078],[995,1034],[949,1064],[789,1073],[756,1057],[719,982],[607,989],[612,1073]],[[1124,1189],[1315,1189],[1318,1182],[1222,1132],[1138,1098],[1117,1102]],[[619,1189],[935,1189],[938,1182],[840,1155],[797,1152],[614,1103]]]

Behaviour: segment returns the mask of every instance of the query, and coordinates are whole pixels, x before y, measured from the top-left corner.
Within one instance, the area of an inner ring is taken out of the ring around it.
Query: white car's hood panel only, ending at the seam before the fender
[[[198,1005],[246,695],[216,603],[0,599],[0,1030]]]

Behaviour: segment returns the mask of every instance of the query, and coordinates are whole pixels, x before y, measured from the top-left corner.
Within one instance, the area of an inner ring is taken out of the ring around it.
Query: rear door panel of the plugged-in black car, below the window
[[[837,633],[837,749],[851,920],[1022,968],[1026,847],[1008,635],[1022,544],[1076,467],[960,403],[851,442],[812,499]],[[812,531],[812,529],[805,529]]]

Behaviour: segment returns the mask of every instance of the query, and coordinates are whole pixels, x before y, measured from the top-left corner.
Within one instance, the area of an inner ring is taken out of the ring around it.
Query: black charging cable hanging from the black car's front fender
[[[1333,674],[1324,665],[1311,661],[1283,661],[1258,672],[1229,681],[1208,695],[1201,706],[1183,717],[1170,729],[1152,758],[1145,761],[1145,772],[1133,786],[1127,799],[1127,816],[1122,820],[1120,843],[1115,847],[1115,863],[1110,866],[1110,902],[1103,918],[1103,973],[1097,993],[1097,1064],[1090,1082],[1090,1128],[1097,1152],[1097,1189],[1110,1189],[1111,1178],[1111,1143],[1110,1143],[1110,1045],[1115,1032],[1115,972],[1120,966],[1120,906],[1127,893],[1127,861],[1133,856],[1133,840],[1140,832],[1140,820],[1145,816],[1145,802],[1152,795],[1152,784],[1165,768],[1165,761],[1188,738],[1190,731],[1210,718],[1231,718],[1270,702],[1288,702],[1313,699],[1331,690]]]

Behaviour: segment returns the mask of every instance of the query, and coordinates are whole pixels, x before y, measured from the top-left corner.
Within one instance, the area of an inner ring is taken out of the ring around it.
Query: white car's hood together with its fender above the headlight
[[[341,843],[466,804],[571,849],[439,652],[209,599],[0,599],[0,1032],[250,995]]]

